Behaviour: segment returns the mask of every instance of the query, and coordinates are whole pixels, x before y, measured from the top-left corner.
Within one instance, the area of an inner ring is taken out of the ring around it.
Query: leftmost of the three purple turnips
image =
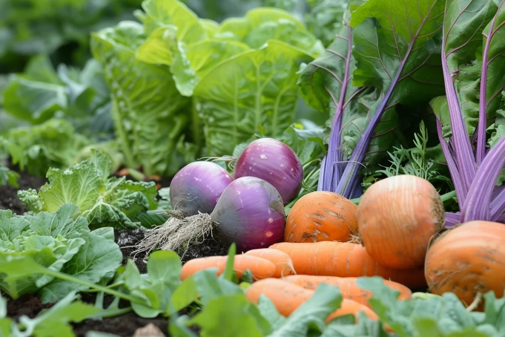
[[[233,181],[221,166],[212,162],[193,162],[177,172],[170,183],[170,204],[184,217],[211,213],[219,197]]]

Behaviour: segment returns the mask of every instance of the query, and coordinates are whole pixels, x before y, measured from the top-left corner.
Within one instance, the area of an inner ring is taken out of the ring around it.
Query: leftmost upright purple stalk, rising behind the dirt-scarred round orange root
[[[349,81],[349,68],[352,51],[352,34],[349,25],[347,25],[347,41],[347,58],[345,59],[344,78],[340,89],[338,103],[336,103],[335,97],[328,90],[336,108],[335,117],[333,118],[333,126],[330,133],[330,141],[328,144],[328,153],[321,163],[318,190],[333,191],[335,189],[335,185],[338,183],[338,179],[341,176],[342,171],[339,163],[342,158],[340,149],[340,131],[342,128],[342,115],[344,110],[345,93],[347,91],[347,82]],[[323,178],[321,179],[321,177]]]

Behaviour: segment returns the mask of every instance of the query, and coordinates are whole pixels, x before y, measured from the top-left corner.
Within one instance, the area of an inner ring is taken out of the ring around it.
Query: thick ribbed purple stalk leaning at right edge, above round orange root
[[[505,165],[505,138],[501,138],[482,161],[461,208],[463,222],[491,220],[491,196],[503,165]]]

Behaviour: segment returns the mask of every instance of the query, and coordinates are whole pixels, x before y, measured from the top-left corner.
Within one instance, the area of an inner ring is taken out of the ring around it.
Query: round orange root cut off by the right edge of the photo
[[[433,294],[452,292],[467,305],[488,291],[503,297],[505,226],[469,221],[446,231],[428,249],[426,280]]]

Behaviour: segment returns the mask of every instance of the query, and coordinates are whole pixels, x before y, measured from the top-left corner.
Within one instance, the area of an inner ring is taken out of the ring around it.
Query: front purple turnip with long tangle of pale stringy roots
[[[270,183],[256,177],[242,177],[226,187],[212,213],[199,212],[173,223],[176,226],[154,229],[157,233],[148,237],[147,246],[153,247],[161,240],[160,249],[177,250],[183,244],[215,235],[221,243],[235,243],[238,252],[246,252],[282,242],[284,204]]]

